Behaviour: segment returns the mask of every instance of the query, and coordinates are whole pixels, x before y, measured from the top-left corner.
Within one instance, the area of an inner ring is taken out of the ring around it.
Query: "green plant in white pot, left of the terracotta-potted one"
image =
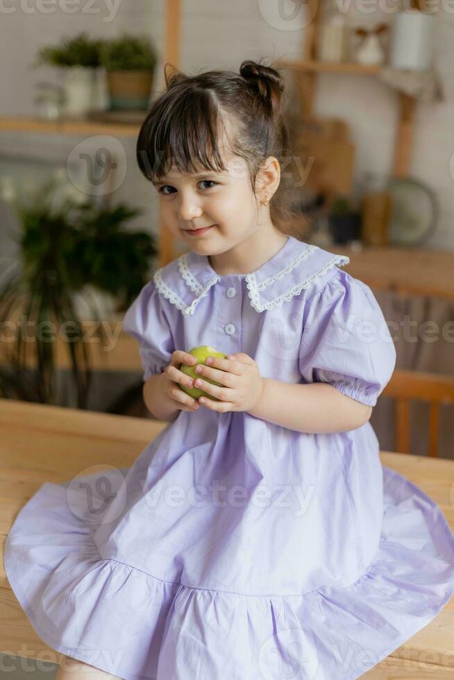
[[[65,92],[63,112],[67,117],[84,117],[90,110],[102,108],[99,98],[102,40],[86,33],[63,37],[55,46],[45,45],[37,53],[33,66],[51,65],[60,69]]]

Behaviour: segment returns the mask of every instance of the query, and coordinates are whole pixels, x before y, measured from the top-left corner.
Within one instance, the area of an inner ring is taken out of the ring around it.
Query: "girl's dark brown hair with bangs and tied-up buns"
[[[270,155],[280,161],[287,153],[283,77],[272,67],[246,60],[239,73],[215,70],[187,76],[175,71],[168,77],[165,71],[165,81],[167,90],[153,102],[137,138],[142,174],[157,180],[172,164],[180,172],[195,172],[194,162],[208,170],[225,171],[218,146],[224,133],[230,153],[246,162],[255,194],[262,162]],[[271,219],[280,230],[289,216],[283,202],[284,184],[281,174],[270,203]]]

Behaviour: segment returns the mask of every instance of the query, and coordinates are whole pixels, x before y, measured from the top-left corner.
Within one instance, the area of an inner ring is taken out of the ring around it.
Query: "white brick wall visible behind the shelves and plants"
[[[107,3],[106,0],[96,0],[92,6],[90,3],[90,12],[84,11],[88,0],[81,0],[74,15],[67,15],[62,10],[64,0],[55,0],[53,5],[51,0],[46,1],[48,7],[54,10],[49,14],[37,10],[36,0],[3,0],[3,5],[0,3],[0,6],[15,8],[15,12],[10,14],[0,12],[0,114],[33,113],[33,83],[44,76],[52,77],[53,70],[31,71],[28,65],[41,44],[56,42],[60,35],[74,35],[83,30],[95,35],[115,35],[123,30],[148,31],[158,50],[162,51],[165,7],[162,1],[115,0],[117,12],[112,20],[112,10],[108,10],[112,2]],[[301,50],[301,30],[288,30],[289,22],[279,25],[272,17],[270,20],[267,4],[269,6],[267,0],[183,2],[180,66],[189,73],[196,73],[212,68],[237,70],[246,58],[297,58]],[[26,12],[22,6],[35,8],[35,12]],[[442,5],[440,2],[436,15],[436,42],[437,64],[447,101],[419,103],[411,164],[411,174],[427,182],[439,196],[440,223],[429,242],[436,248],[454,248],[454,186],[450,172],[454,152],[454,15],[446,7],[446,3]],[[392,18],[378,9],[366,15],[356,3],[352,3],[348,17],[355,26]],[[158,67],[155,92],[162,83],[161,71],[162,63]],[[319,77],[317,111],[342,116],[351,124],[351,136],[357,145],[357,187],[365,171],[386,173],[392,167],[397,104],[396,93],[377,78],[333,74]],[[65,160],[65,155],[78,141],[76,137],[2,133],[0,171],[3,153],[33,153],[38,158],[40,154],[55,154]],[[128,168],[115,199],[125,198],[131,203],[144,205],[149,228],[157,233],[155,196],[135,167],[135,140],[124,138],[121,142],[126,149]],[[137,224],[143,221],[137,220]]]

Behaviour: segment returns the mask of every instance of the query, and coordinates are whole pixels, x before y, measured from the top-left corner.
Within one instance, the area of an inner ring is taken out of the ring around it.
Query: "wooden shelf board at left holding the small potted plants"
[[[0,117],[0,132],[136,137],[139,130],[139,124],[129,123],[102,123],[90,120],[46,121],[39,118],[22,116]]]

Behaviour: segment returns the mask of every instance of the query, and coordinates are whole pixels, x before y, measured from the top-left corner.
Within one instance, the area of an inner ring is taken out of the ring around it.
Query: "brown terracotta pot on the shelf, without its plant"
[[[148,108],[153,71],[108,71],[111,110]]]

